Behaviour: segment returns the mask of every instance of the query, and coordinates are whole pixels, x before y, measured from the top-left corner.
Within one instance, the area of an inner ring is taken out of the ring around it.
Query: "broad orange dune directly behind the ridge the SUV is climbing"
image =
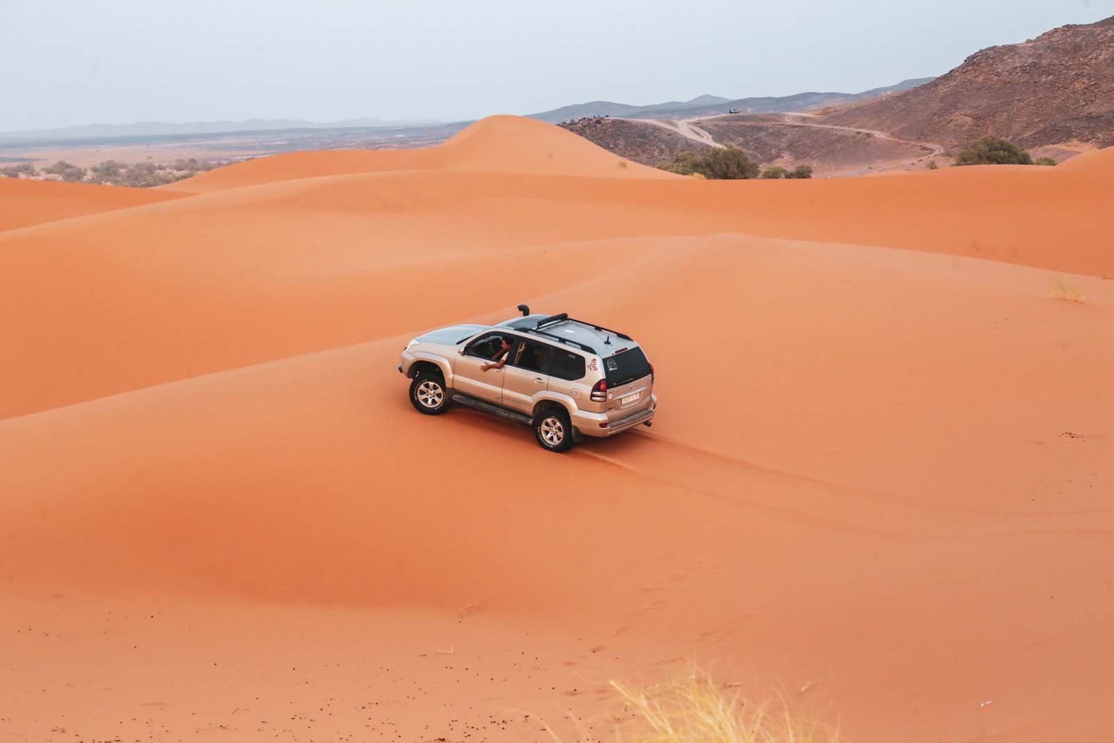
[[[1032,167],[746,183],[418,170],[182,198],[0,235],[0,346],[16,350],[0,416],[428,327],[496,296],[512,306],[583,273],[576,244],[602,238],[742,233],[1114,276],[1105,202],[1088,170]],[[1035,218],[1049,204],[1055,218]],[[461,275],[485,290],[450,304]]]

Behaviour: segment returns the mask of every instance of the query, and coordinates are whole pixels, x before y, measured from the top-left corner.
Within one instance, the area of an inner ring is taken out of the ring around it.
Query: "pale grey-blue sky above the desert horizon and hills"
[[[0,0],[0,131],[854,92],[1114,0]]]

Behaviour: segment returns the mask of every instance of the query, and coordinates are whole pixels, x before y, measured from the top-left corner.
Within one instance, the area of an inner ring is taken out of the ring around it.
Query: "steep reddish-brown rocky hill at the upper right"
[[[1079,140],[1114,145],[1114,18],[1064,26],[978,51],[947,75],[825,124],[936,141],[952,151],[985,135],[1025,147]]]

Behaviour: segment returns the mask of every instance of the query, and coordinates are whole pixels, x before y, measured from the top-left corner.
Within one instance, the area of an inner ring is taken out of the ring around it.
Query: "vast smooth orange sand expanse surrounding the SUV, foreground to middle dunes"
[[[257,160],[0,237],[0,739],[631,740],[607,681],[693,661],[852,741],[1103,740],[1114,283],[1049,270],[1111,258],[1103,153],[712,184],[521,151]],[[402,344],[520,301],[633,333],[654,428],[554,456],[416,413]]]

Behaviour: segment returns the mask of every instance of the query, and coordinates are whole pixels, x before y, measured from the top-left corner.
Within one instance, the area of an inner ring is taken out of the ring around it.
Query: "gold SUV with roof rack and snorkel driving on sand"
[[[410,341],[399,371],[413,407],[437,416],[456,402],[526,423],[549,451],[651,424],[654,366],[629,335],[518,309],[522,316],[498,325],[451,325]]]

